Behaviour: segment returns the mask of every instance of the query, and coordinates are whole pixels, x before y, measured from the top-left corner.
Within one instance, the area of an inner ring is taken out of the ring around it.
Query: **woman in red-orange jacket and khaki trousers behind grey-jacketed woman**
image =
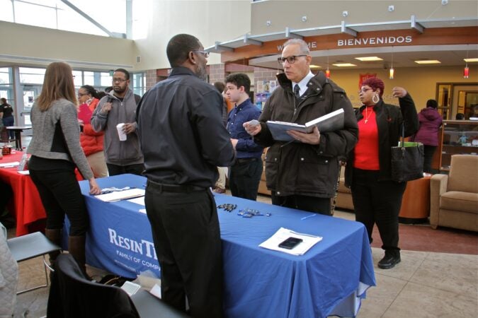
[[[90,116],[86,119],[86,122],[82,119],[79,120],[79,124],[82,127],[80,134],[81,148],[86,155],[86,159],[93,170],[93,175],[96,178],[108,177],[108,167],[106,167],[105,154],[103,153],[103,139],[104,132],[96,132],[91,127],[91,114],[93,114],[101,96],[93,86],[84,85],[78,90],[78,101],[80,103],[79,111],[81,113],[81,107],[85,105]]]

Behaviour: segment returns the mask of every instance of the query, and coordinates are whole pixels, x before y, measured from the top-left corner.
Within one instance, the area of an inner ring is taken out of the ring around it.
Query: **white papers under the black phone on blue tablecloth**
[[[288,237],[300,238],[302,239],[302,242],[300,242],[300,244],[293,249],[284,249],[282,247],[279,247],[279,244],[287,240]],[[263,247],[265,249],[273,249],[275,251],[284,252],[292,255],[303,255],[321,240],[322,237],[319,236],[297,233],[286,228],[280,228],[277,232],[275,232],[274,235],[268,238],[268,240],[262,242],[259,247]]]

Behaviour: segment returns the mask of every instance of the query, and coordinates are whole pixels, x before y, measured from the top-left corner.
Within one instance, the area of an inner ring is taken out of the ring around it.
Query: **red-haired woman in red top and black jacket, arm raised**
[[[398,215],[406,182],[392,180],[392,146],[402,135],[415,134],[419,128],[414,100],[404,88],[394,87],[392,95],[400,107],[382,100],[385,84],[380,78],[363,81],[359,91],[363,106],[355,111],[358,122],[358,143],[348,155],[345,184],[351,187],[355,220],[365,225],[372,242],[377,224],[385,256],[380,269],[391,269],[400,262]]]

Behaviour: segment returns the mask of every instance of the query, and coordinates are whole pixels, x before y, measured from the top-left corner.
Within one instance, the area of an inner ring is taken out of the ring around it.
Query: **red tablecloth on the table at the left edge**
[[[23,153],[17,151],[11,155],[4,155],[0,163],[20,161]],[[17,167],[0,167],[0,179],[10,184],[13,190],[10,213],[16,218],[16,236],[28,234],[28,224],[46,218],[40,194],[29,175],[21,175]]]

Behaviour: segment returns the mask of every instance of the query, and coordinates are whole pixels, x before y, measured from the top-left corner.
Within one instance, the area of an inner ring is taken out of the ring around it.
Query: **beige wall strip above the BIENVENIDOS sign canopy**
[[[394,5],[393,12],[388,6]],[[348,11],[343,17],[342,12]],[[374,23],[394,20],[440,18],[477,18],[478,1],[450,0],[442,6],[440,0],[390,0],[390,1],[343,1],[343,0],[268,0],[252,4],[251,33],[253,35],[292,29],[317,28],[325,25]],[[302,16],[307,21],[302,22]],[[266,21],[271,25],[267,26]]]

